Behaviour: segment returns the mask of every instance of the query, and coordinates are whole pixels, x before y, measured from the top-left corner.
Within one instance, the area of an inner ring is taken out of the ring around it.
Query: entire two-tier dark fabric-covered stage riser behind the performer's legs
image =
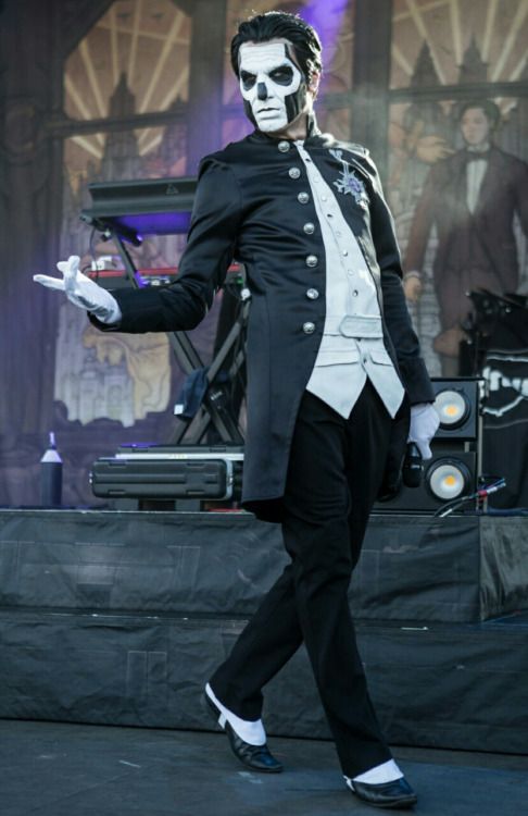
[[[350,597],[392,743],[527,752],[527,532],[373,518]],[[203,685],[285,562],[249,514],[0,511],[0,717],[211,728]],[[303,648],[265,696],[271,734],[328,737]]]

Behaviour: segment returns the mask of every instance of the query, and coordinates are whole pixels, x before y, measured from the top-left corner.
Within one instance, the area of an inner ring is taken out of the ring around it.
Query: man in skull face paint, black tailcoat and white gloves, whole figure
[[[261,720],[262,689],[305,643],[348,787],[375,806],[416,795],[374,713],[348,604],[376,496],[398,484],[407,437],[423,456],[438,418],[401,286],[393,224],[368,151],[322,135],[314,29],[269,12],[231,42],[256,129],[200,165],[178,281],[110,294],[78,272],[37,276],[102,331],[180,331],[206,313],[231,259],[246,265],[244,507],[282,524],[291,561],[263,599],[206,700],[236,756],[282,769]]]

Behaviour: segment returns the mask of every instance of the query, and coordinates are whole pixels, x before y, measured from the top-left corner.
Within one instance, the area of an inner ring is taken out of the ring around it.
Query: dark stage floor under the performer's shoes
[[[332,744],[271,739],[286,766],[244,770],[224,734],[0,720],[2,816],[344,816]],[[521,816],[528,756],[394,749],[417,816]]]

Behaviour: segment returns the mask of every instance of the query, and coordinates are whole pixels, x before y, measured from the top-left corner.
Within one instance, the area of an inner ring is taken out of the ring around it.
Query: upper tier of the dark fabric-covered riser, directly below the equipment
[[[250,616],[287,556],[251,514],[0,510],[0,608]],[[528,606],[528,518],[373,516],[357,619],[478,622]]]

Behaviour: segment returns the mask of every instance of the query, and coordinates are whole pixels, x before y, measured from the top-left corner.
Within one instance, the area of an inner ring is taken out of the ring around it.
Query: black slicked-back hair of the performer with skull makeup
[[[266,42],[275,37],[282,37],[292,44],[306,82],[310,82],[314,72],[320,73],[322,48],[315,28],[297,14],[289,14],[286,11],[268,11],[265,14],[255,14],[240,23],[231,40],[231,65],[236,75],[239,76],[238,52],[243,42]]]

